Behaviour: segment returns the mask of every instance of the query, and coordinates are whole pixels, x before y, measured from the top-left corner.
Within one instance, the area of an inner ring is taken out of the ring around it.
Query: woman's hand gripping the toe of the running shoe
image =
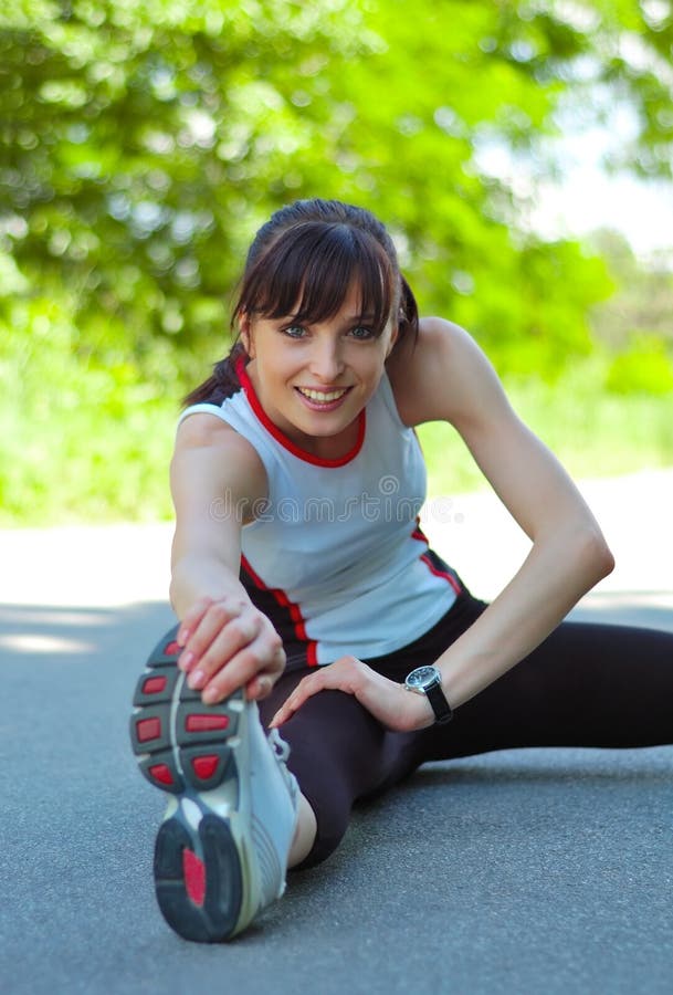
[[[285,668],[283,643],[270,620],[235,596],[196,601],[181,619],[177,642],[178,667],[206,704],[239,688],[249,701],[266,698]]]

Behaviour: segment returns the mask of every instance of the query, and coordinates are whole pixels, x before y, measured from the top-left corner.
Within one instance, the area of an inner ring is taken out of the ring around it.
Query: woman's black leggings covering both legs
[[[462,594],[420,639],[366,662],[403,681],[431,663],[486,605]],[[312,669],[283,674],[260,703],[271,716]],[[449,725],[385,730],[350,694],[323,691],[281,729],[290,767],[317,818],[302,867],[338,846],[353,804],[390,787],[427,761],[518,746],[632,747],[673,743],[673,633],[628,626],[562,622],[528,657],[456,709]]]

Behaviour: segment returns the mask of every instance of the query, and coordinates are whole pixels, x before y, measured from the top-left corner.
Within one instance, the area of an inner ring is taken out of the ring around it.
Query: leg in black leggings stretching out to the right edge
[[[423,754],[673,743],[672,702],[673,633],[566,621],[449,726],[429,730]]]

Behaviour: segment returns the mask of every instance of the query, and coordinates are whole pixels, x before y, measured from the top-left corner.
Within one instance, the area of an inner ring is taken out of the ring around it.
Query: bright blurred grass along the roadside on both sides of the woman
[[[172,514],[168,463],[181,385],[162,394],[114,370],[57,368],[49,357],[0,368],[0,526],[158,521]],[[10,368],[11,367],[11,368]],[[599,389],[598,359],[556,385],[507,384],[514,407],[574,476],[673,467],[673,395]],[[485,486],[456,432],[419,431],[430,496]]]

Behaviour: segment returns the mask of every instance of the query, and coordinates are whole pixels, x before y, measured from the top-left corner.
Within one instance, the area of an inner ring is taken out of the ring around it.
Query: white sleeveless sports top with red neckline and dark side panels
[[[269,496],[242,530],[241,580],[281,635],[288,667],[379,657],[422,636],[461,588],[420,531],[425,465],[386,374],[354,449],[323,460],[269,419],[242,363],[236,373],[242,390],[180,420],[217,415],[264,464]],[[233,513],[225,499],[220,512]]]

